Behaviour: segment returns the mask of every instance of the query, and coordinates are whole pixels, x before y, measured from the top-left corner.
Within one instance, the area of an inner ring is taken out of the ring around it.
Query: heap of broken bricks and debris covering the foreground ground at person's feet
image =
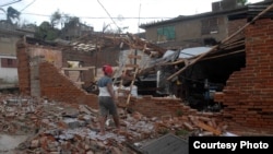
[[[17,153],[134,154],[141,153],[136,145],[140,147],[144,141],[166,133],[187,140],[197,132],[218,135],[225,127],[218,128],[221,125],[213,119],[190,115],[146,118],[140,112],[119,109],[121,131],[115,131],[109,118],[107,133],[98,135],[97,110],[84,105],[75,108],[44,98],[0,94],[0,132],[32,134],[17,145]]]

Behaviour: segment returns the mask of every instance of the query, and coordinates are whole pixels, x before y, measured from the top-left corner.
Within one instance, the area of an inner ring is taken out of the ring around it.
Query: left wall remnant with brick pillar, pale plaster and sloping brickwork
[[[96,95],[86,93],[61,73],[61,50],[23,40],[16,46],[20,94],[98,108]]]

